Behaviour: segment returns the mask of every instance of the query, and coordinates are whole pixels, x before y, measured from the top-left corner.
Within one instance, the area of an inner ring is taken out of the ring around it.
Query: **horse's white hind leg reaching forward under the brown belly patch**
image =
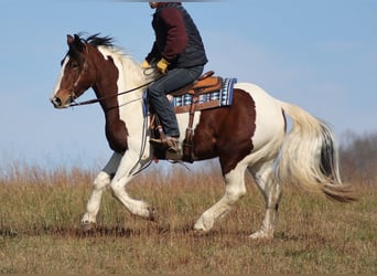
[[[234,170],[225,174],[225,194],[212,208],[206,210],[194,225],[197,231],[209,231],[217,219],[224,217],[240,198],[246,194],[245,166],[238,164]]]

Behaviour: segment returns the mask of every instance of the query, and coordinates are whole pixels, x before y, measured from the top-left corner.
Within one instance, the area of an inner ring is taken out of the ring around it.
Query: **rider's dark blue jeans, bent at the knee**
[[[159,115],[161,125],[166,136],[180,137],[175,113],[166,94],[179,89],[197,79],[203,73],[204,66],[191,68],[173,68],[162,78],[155,81],[148,88],[150,104]]]

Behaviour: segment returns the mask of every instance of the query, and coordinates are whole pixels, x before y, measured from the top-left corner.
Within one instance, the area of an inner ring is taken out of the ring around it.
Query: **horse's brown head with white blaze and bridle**
[[[68,52],[62,61],[62,71],[51,96],[55,108],[65,108],[87,91],[95,81],[90,66],[89,44],[75,34],[67,35]]]

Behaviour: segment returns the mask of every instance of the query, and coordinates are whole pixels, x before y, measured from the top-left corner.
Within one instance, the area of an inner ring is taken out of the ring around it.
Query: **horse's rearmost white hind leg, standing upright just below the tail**
[[[258,171],[248,168],[266,201],[266,214],[262,226],[251,234],[251,238],[272,238],[278,222],[278,209],[281,198],[281,187],[273,178],[273,161],[262,164]]]

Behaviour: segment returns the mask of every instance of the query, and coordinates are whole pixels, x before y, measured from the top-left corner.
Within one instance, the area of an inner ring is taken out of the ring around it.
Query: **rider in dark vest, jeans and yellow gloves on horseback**
[[[207,57],[201,34],[181,2],[149,2],[149,6],[155,9],[152,20],[155,41],[141,67],[153,64],[162,74],[148,88],[148,96],[166,135],[166,150],[179,152],[180,129],[166,94],[197,79]],[[162,141],[151,139],[151,142]]]

